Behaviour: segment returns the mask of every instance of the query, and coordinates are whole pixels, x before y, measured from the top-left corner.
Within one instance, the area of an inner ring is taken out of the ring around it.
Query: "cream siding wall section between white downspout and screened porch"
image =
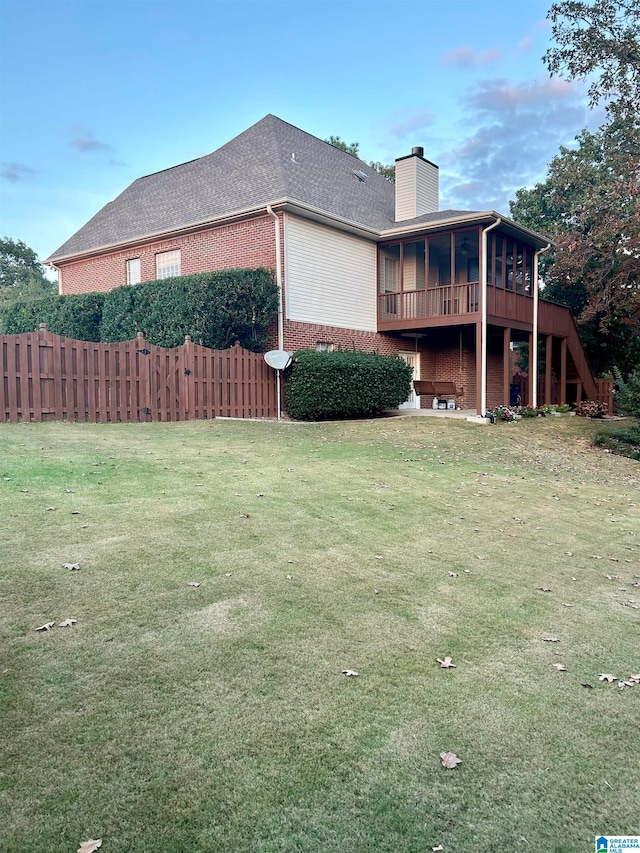
[[[375,332],[376,244],[287,214],[285,293],[289,320]]]

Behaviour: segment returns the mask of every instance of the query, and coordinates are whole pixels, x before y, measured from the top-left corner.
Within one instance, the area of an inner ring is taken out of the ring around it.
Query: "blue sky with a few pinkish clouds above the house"
[[[549,79],[551,0],[0,0],[0,234],[53,253],[136,178],[274,113],[496,209],[601,116]]]

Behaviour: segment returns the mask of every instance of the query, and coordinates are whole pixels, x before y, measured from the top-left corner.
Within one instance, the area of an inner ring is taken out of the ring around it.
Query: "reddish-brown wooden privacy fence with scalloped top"
[[[183,421],[277,416],[276,372],[238,343],[163,349],[142,333],[97,344],[48,332],[0,335],[2,421]]]

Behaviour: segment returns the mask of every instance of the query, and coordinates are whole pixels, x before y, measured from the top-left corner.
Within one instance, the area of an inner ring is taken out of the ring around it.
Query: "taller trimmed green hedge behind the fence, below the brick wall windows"
[[[264,349],[278,310],[270,270],[229,269],[125,285],[105,296],[102,341],[125,341],[142,332],[156,346],[194,343],[226,349],[240,341]]]

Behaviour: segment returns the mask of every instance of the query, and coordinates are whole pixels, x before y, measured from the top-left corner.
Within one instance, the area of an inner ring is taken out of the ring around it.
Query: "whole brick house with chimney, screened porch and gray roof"
[[[396,160],[394,185],[268,115],[206,157],[134,181],[47,263],[61,294],[272,268],[274,347],[397,353],[416,379],[455,383],[459,405],[481,413],[509,402],[520,340],[534,378],[544,349],[544,402],[595,397],[571,312],[538,300],[547,246],[494,211],[439,210],[438,167],[421,148]],[[543,402],[531,387],[530,402]],[[404,407],[420,405],[431,397]]]

